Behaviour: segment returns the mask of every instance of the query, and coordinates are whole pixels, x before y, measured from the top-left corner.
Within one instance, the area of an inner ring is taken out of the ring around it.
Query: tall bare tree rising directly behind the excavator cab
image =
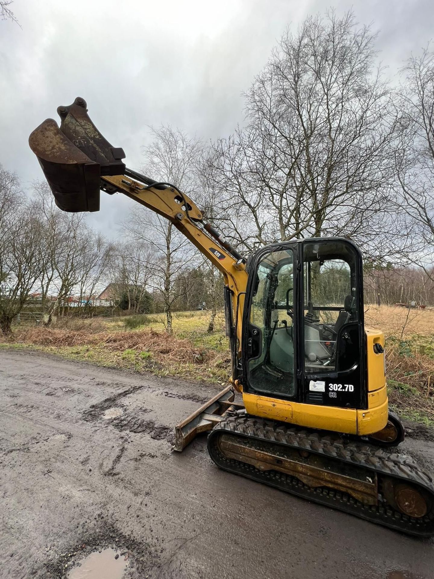
[[[246,126],[215,143],[223,223],[248,250],[384,230],[392,127],[375,39],[352,13],[308,17],[245,94]]]

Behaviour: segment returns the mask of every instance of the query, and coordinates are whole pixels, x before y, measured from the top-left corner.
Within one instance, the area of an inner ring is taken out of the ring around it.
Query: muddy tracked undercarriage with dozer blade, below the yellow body
[[[248,416],[242,408],[223,390],[176,427],[175,449],[211,430],[208,452],[223,470],[407,534],[434,535],[433,478],[398,448]]]

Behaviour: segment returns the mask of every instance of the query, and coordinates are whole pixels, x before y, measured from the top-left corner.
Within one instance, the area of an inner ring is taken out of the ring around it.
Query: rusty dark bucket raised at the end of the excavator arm
[[[123,175],[123,149],[112,147],[87,114],[86,101],[76,98],[58,107],[60,129],[46,119],[30,135],[29,144],[63,211],[98,211],[100,177]]]

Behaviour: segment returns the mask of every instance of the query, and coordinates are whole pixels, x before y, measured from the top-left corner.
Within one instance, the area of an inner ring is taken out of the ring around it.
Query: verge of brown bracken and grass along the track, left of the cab
[[[168,336],[152,328],[132,331],[101,332],[59,328],[23,328],[0,347],[34,349],[55,354],[67,360],[86,361],[107,368],[150,371],[157,376],[181,376],[205,382],[227,382],[230,356],[223,332],[208,335],[183,329]],[[203,336],[201,338],[200,336]]]

